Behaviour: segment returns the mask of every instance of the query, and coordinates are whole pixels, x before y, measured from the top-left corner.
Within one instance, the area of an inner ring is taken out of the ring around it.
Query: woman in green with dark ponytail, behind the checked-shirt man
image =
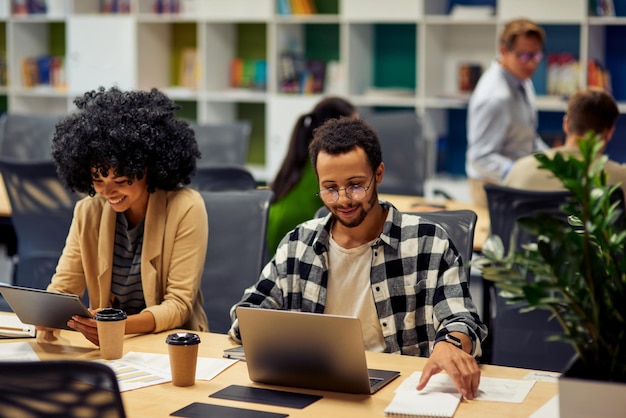
[[[315,195],[317,178],[309,160],[313,130],[328,119],[352,116],[356,109],[339,97],[320,101],[311,113],[301,115],[291,133],[289,149],[282,166],[270,184],[274,202],[267,223],[267,246],[273,256],[280,240],[300,222],[311,219],[321,203]]]

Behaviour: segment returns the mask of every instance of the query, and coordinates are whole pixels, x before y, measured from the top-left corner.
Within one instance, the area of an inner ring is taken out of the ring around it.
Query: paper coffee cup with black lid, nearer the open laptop
[[[196,363],[200,336],[191,332],[177,332],[165,339],[170,356],[170,370],[174,386],[192,386],[196,383]]]

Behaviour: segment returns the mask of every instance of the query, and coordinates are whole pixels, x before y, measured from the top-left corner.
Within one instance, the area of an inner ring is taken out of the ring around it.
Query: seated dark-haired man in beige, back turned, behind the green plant
[[[600,89],[579,91],[569,99],[563,117],[565,143],[543,153],[550,158],[554,158],[557,152],[581,158],[578,141],[593,131],[601,135],[606,144],[613,135],[618,116],[617,103],[609,93]],[[626,196],[626,165],[607,160],[604,171],[607,173],[607,183],[621,183]],[[564,190],[559,179],[539,168],[539,162],[533,155],[517,160],[504,179],[504,184],[527,190]]]

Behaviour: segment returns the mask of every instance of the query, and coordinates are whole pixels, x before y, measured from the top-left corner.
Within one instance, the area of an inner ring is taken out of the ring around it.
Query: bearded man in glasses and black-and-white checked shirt
[[[281,241],[232,308],[231,338],[241,341],[237,306],[358,317],[367,350],[429,356],[418,389],[445,370],[459,392],[474,398],[480,379],[474,356],[487,329],[445,230],[378,200],[385,166],[378,136],[363,120],[327,121],[309,152],[330,214]]]

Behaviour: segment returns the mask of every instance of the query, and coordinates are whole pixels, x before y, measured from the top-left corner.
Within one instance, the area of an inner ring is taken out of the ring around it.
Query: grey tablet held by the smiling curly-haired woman
[[[72,315],[91,317],[76,295],[10,285],[0,285],[0,293],[25,324],[69,329],[67,321]]]

